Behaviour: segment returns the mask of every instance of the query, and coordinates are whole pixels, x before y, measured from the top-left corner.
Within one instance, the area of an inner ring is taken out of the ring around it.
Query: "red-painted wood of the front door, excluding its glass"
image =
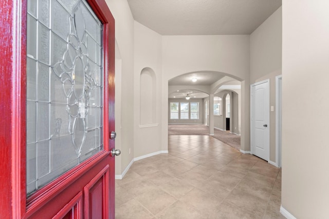
[[[57,1],[62,0],[50,2]],[[43,4],[48,1],[38,2]],[[115,131],[115,23],[105,0],[86,0],[86,2],[103,24],[102,86],[104,92],[101,133],[103,150],[42,188],[38,188],[28,197],[26,195],[28,1],[4,0],[1,3],[0,157],[2,157],[2,162],[0,162],[0,168],[2,171],[0,171],[0,183],[2,186],[0,187],[0,218],[115,217],[115,158],[111,156],[111,149],[115,147],[115,142],[109,139],[109,133]]]

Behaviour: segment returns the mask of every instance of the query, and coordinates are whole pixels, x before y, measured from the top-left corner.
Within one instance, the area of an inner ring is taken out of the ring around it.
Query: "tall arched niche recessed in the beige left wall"
[[[145,67],[140,72],[140,125],[156,124],[156,75]]]

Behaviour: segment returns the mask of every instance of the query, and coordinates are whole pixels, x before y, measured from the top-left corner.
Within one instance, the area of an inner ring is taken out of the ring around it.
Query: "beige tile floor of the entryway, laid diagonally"
[[[170,135],[169,153],[116,180],[116,218],[285,218],[281,169],[208,135]]]

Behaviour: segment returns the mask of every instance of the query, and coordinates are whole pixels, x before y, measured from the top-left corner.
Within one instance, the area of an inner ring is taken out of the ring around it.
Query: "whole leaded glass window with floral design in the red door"
[[[27,195],[103,150],[102,24],[81,0],[28,0]]]

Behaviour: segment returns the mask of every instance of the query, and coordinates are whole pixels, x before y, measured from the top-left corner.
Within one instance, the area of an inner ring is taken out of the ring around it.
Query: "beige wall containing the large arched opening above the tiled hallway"
[[[162,123],[168,121],[168,81],[180,74],[216,71],[244,81],[242,83],[241,148],[250,150],[249,133],[249,35],[162,36]],[[245,86],[245,84],[247,86]],[[164,127],[163,136],[168,135]],[[163,142],[168,145],[168,142]]]

